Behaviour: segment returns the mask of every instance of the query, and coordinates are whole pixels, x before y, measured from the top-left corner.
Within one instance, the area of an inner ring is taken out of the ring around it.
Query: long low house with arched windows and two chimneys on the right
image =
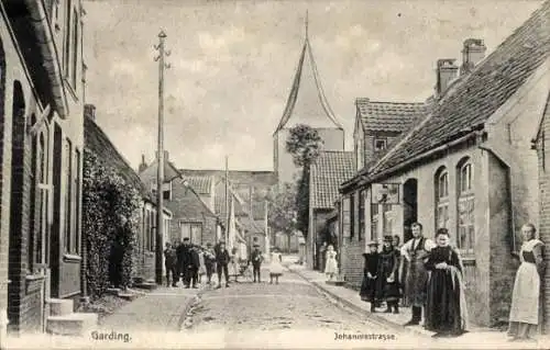
[[[454,59],[438,60],[426,116],[341,185],[343,212],[350,197],[365,199],[367,239],[403,238],[413,221],[429,237],[449,228],[464,260],[470,316],[483,326],[507,321],[517,269],[510,252],[520,226],[539,223],[531,140],[549,92],[549,15],[546,2],[485,58],[482,41],[465,41],[460,76]],[[360,221],[342,218],[353,239]]]

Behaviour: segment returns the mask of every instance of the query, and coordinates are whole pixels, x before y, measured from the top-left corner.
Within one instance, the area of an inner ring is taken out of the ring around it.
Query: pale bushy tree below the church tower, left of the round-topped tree
[[[296,229],[296,187],[292,183],[284,183],[279,191],[266,199],[270,202],[267,224],[274,232],[286,235],[288,249],[290,249],[290,237]]]

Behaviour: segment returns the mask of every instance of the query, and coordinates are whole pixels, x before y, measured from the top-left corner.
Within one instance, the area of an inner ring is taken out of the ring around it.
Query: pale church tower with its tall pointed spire
[[[286,151],[289,129],[297,124],[306,124],[317,129],[323,140],[323,150],[343,150],[344,131],[337,121],[324,92],[314,59],[308,36],[308,18],[306,14],[306,38],[301,48],[298,67],[294,77],[290,93],[286,102],[280,122],[273,133],[274,169],[278,183],[294,182],[300,169],[293,162]]]

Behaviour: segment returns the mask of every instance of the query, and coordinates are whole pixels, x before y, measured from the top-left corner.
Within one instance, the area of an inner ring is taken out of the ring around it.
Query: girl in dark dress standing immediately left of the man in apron
[[[386,302],[386,313],[399,313],[399,251],[393,246],[393,237],[384,236],[384,245],[380,252],[378,264],[378,289],[380,294]],[[378,295],[380,295],[378,294]]]

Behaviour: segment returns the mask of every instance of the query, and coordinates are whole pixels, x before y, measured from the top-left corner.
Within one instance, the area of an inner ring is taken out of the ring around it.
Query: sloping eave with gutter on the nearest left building
[[[36,33],[42,34],[40,38],[40,46],[43,47],[43,45],[46,46],[46,50],[50,53],[50,65],[54,72],[54,79],[52,81],[53,84],[53,91],[54,95],[62,99],[62,105],[56,104],[56,110],[57,113],[59,114],[59,117],[66,118],[66,106],[68,105],[67,102],[67,95],[65,94],[65,89],[63,88],[63,75],[62,75],[62,67],[59,65],[59,60],[57,57],[59,55],[57,54],[57,49],[54,44],[54,35],[52,33],[52,26],[50,25],[50,21],[47,19],[47,12],[44,8],[44,1],[43,0],[24,0],[26,7],[29,8],[29,12],[31,13],[31,21],[33,22],[33,27]],[[41,50],[44,50],[44,48],[41,48]],[[46,56],[46,55],[44,55]],[[46,68],[47,70],[47,68]]]

